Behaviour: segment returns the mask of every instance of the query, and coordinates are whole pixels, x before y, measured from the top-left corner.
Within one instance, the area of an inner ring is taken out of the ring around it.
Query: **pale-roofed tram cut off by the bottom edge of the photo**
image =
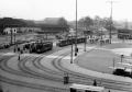
[[[70,87],[70,92],[105,92],[103,87],[95,87],[95,85],[85,85],[73,83]]]

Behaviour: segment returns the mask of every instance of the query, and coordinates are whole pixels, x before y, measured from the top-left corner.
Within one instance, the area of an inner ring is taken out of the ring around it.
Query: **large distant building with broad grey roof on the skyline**
[[[42,31],[37,33],[57,34],[69,31],[69,26],[63,18],[46,18],[41,24],[41,28]]]

